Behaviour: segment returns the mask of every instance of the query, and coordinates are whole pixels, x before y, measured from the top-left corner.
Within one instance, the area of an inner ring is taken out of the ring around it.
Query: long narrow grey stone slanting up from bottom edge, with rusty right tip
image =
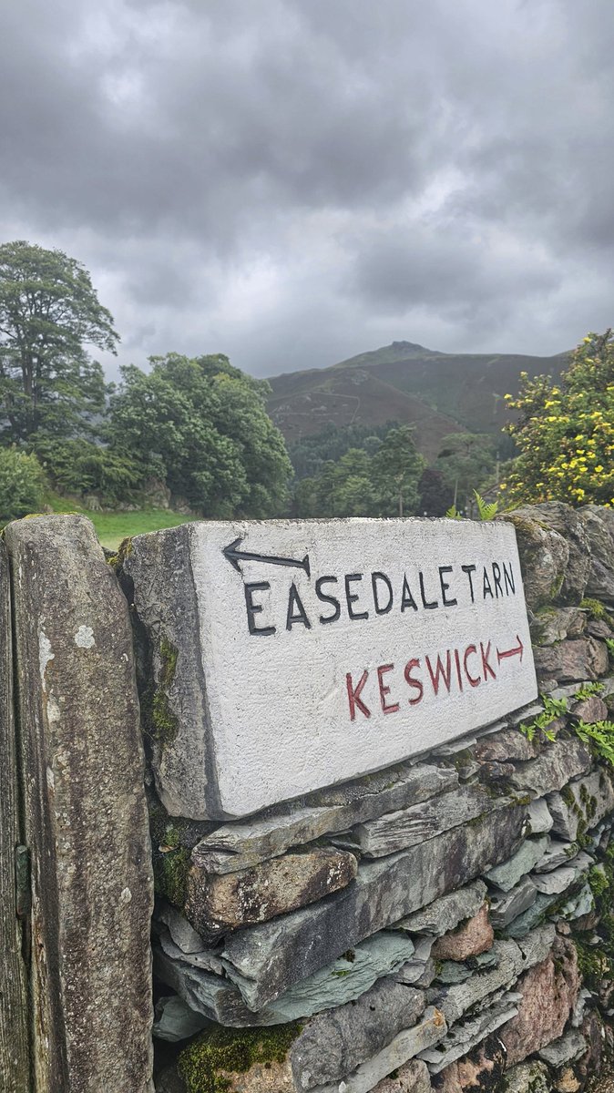
[[[382,1078],[398,1070],[409,1059],[414,1059],[426,1047],[436,1044],[446,1035],[446,1032],[447,1025],[444,1015],[438,1010],[429,1008],[425,1010],[422,1021],[413,1029],[405,1029],[399,1033],[387,1047],[363,1062],[354,1073],[347,1074],[341,1083],[318,1085],[310,1093],[370,1093],[377,1089],[377,1083]],[[416,1090],[410,1086],[411,1093],[422,1093],[423,1090],[428,1093],[430,1084],[425,1084],[424,1072],[417,1071],[417,1073],[421,1084]]]

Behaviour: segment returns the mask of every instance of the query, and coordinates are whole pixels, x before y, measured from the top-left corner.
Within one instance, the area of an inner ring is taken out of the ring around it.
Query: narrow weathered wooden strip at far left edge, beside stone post
[[[0,1090],[31,1093],[26,968],[15,900],[20,821],[12,660],[9,564],[0,540]]]

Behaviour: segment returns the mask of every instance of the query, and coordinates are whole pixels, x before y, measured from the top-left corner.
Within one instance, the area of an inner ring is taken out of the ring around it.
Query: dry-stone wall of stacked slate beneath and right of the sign
[[[614,516],[509,518],[543,730],[539,702],[236,822],[172,820],[152,790],[161,1093],[575,1093],[599,1071],[614,783],[582,724],[614,708]]]

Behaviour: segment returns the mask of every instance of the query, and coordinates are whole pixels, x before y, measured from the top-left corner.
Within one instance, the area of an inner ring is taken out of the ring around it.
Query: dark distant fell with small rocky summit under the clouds
[[[353,422],[415,427],[418,449],[434,459],[448,433],[499,433],[517,395],[520,373],[558,377],[568,353],[440,353],[397,341],[328,368],[273,376],[269,413],[288,442],[327,425]]]

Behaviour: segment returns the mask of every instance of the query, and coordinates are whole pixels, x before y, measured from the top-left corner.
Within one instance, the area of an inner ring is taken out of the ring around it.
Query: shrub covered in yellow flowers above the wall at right
[[[511,501],[614,506],[614,336],[589,333],[559,383],[522,373],[519,420],[507,426],[520,448],[501,489]]]

